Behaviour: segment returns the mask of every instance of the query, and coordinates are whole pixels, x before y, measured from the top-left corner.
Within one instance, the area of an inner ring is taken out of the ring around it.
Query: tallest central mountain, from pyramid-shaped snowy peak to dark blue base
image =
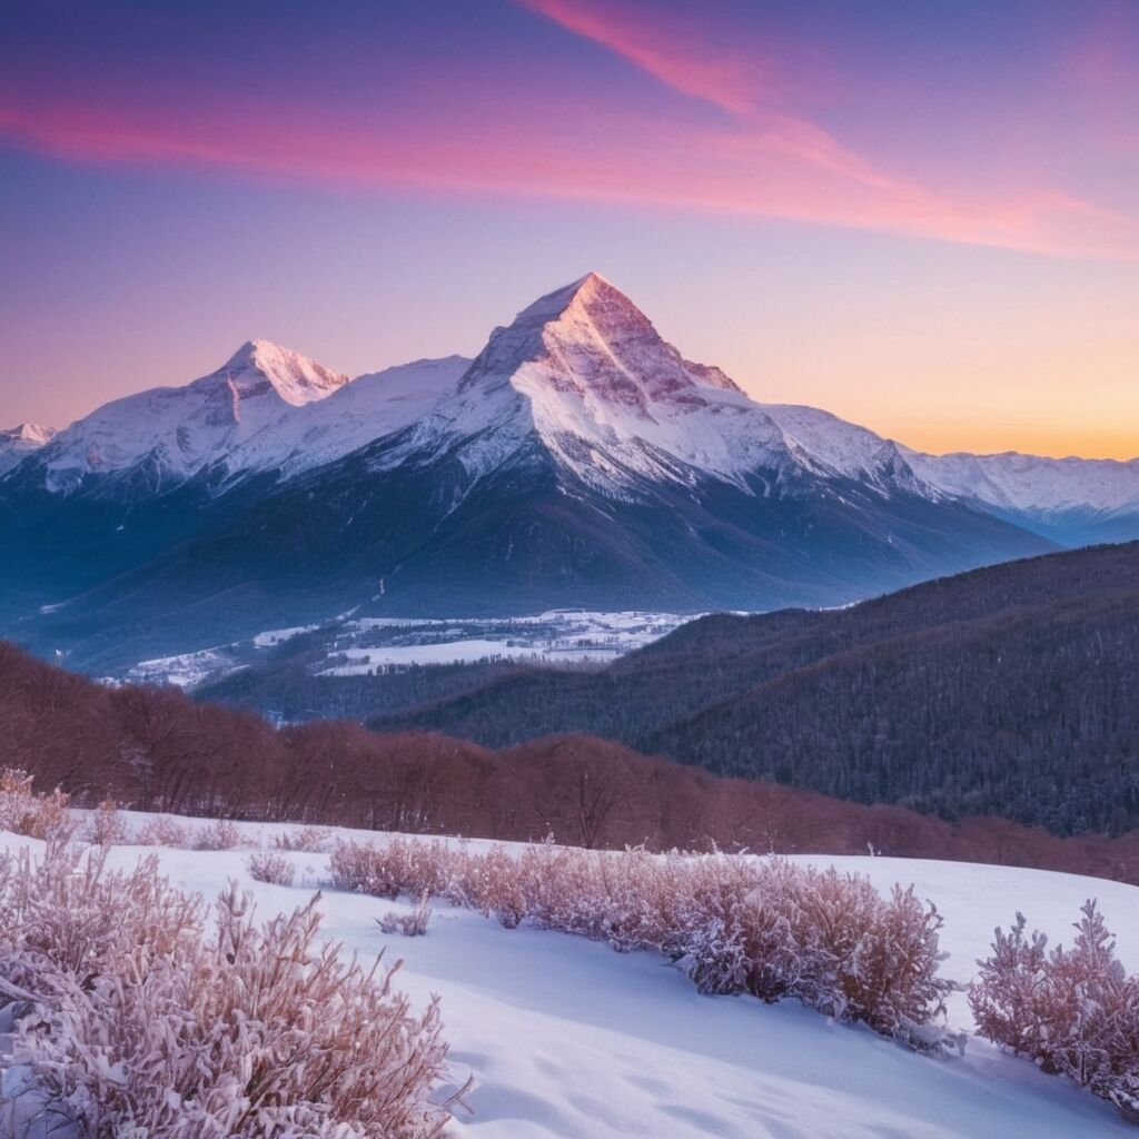
[[[54,598],[68,604],[28,642],[115,669],[361,606],[835,605],[1050,548],[869,432],[784,429],[593,273],[495,329],[456,383],[464,362],[376,377],[380,394],[415,393],[383,413],[357,380],[219,448],[181,484],[194,526]]]

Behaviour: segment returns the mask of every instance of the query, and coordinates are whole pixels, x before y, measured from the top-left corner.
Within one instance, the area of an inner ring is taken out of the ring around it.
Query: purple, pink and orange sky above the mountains
[[[1139,454],[1136,0],[0,7],[0,427],[596,269],[752,395]]]

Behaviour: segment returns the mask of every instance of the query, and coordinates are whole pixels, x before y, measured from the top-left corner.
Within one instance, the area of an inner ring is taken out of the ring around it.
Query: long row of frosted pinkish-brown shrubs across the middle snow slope
[[[418,850],[416,849],[418,847]],[[336,886],[439,894],[513,928],[531,925],[655,949],[702,992],[793,997],[913,1048],[959,1046],[943,1026],[942,919],[912,890],[743,855],[592,852],[552,844],[470,854],[441,843],[346,843]],[[394,927],[393,927],[394,928]]]

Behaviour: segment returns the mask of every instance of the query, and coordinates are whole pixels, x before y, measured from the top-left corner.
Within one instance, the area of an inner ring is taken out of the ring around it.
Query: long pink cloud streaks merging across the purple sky
[[[589,91],[576,95],[573,115],[556,118],[540,98],[503,98],[465,117],[458,93],[450,116],[290,105],[248,92],[180,91],[172,83],[161,100],[144,100],[130,83],[116,88],[105,76],[80,76],[68,97],[39,83],[34,72],[13,69],[0,77],[0,134],[81,162],[713,211],[1139,259],[1136,222],[1092,203],[1049,189],[966,200],[882,169],[782,106],[776,68],[753,66],[729,49],[700,49],[689,28],[646,30],[620,5],[526,2],[722,117],[710,124],[706,114],[652,114]]]

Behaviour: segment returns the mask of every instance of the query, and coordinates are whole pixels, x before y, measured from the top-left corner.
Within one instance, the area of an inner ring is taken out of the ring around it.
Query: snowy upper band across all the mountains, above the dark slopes
[[[645,481],[705,476],[767,494],[775,473],[782,486],[841,477],[997,513],[1139,513],[1139,460],[929,456],[825,411],[757,403],[685,360],[597,273],[497,328],[474,361],[420,360],[349,383],[253,341],[213,375],[108,403],[47,445],[3,440],[0,475],[38,451],[56,491],[130,469],[161,490],[214,464],[229,484],[259,472],[292,478],[384,440],[379,469],[453,452],[475,477],[539,446],[616,498]]]

